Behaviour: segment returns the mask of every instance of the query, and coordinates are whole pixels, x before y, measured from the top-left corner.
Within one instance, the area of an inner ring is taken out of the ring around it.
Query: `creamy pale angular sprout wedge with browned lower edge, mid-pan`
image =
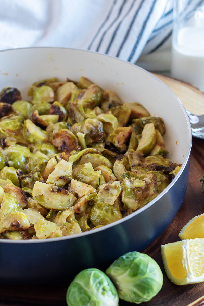
[[[72,163],[62,159],[47,178],[47,184],[62,187],[72,179]]]

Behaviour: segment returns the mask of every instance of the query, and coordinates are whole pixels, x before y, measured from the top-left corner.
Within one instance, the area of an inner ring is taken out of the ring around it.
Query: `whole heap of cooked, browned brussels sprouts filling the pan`
[[[0,92],[0,239],[92,230],[154,200],[178,174],[162,118],[81,76]],[[145,103],[145,101],[144,101]]]

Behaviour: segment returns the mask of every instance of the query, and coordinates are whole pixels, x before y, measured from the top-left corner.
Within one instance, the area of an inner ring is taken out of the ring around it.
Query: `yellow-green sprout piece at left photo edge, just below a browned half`
[[[0,207],[0,219],[11,211],[20,211],[20,208],[16,198],[5,192]]]

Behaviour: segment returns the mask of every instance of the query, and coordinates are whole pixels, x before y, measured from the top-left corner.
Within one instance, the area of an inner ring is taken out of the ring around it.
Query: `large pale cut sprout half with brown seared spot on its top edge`
[[[56,188],[54,188],[56,187]],[[35,182],[32,196],[47,209],[64,210],[73,205],[76,197],[63,188]]]

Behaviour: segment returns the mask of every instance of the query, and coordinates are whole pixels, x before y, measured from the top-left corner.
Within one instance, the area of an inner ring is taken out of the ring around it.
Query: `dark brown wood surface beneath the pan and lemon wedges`
[[[200,179],[204,175],[204,140],[193,138],[190,176],[184,202],[169,227],[154,241],[144,253],[150,255],[161,267],[164,284],[161,291],[149,302],[141,306],[187,306],[204,295],[204,283],[178,286],[166,276],[162,258],[161,245],[179,241],[181,228],[193,217],[204,213],[204,194]],[[69,283],[59,283],[56,286],[38,286],[37,283],[0,285],[1,306],[66,306],[66,291]],[[120,301],[120,306],[131,306]],[[203,306],[203,299],[196,306]]]

